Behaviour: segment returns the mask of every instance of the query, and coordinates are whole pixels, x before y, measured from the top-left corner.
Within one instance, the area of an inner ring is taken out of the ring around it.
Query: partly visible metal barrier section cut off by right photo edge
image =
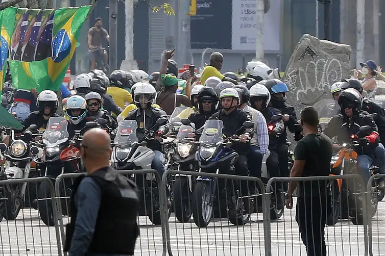
[[[368,221],[368,238],[369,238],[369,255],[382,255],[382,252],[385,250],[385,244],[383,243],[384,239],[384,229],[382,223],[385,220],[385,206],[383,203],[383,194],[377,192],[377,180],[380,178],[385,178],[385,174],[376,174],[372,175],[369,178],[368,185],[366,190],[369,192],[367,194],[368,206],[373,204],[375,206],[375,211],[371,213],[372,218],[369,218]],[[377,199],[377,200],[376,200]]]

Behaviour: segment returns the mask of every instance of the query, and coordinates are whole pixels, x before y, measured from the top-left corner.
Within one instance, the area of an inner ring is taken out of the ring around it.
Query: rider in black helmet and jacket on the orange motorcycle
[[[370,125],[372,133],[364,138],[359,138],[359,146],[355,148],[358,154],[357,171],[364,178],[365,184],[369,181],[369,168],[372,165],[375,148],[379,142],[377,125],[373,118],[362,111],[363,99],[359,92],[348,88],[340,93],[338,104],[341,114],[332,117],[324,131],[329,138],[336,136],[339,144],[351,143],[351,135],[359,132],[359,127]]]

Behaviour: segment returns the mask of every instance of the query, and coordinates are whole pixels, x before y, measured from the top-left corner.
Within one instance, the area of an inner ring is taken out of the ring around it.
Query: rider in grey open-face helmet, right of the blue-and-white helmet
[[[105,119],[110,129],[114,130],[117,127],[117,122],[113,119],[107,111],[102,109],[102,96],[97,92],[89,92],[84,99],[87,102],[87,116],[92,121],[99,118]]]

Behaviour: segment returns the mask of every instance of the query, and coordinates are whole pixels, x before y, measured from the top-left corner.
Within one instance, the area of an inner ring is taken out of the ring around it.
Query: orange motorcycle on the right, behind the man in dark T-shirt
[[[330,162],[330,175],[343,175],[357,173],[357,153],[354,149],[359,146],[358,138],[372,131],[368,125],[361,126],[359,133],[351,135],[351,143],[342,145],[334,145],[335,153]],[[375,169],[371,167],[371,169]],[[378,169],[378,168],[377,168]],[[331,188],[332,211],[327,218],[328,225],[334,225],[341,218],[351,217],[354,225],[363,224],[363,211],[369,207],[369,215],[373,217],[377,209],[377,194],[371,195],[371,200],[368,207],[363,205],[363,192],[366,191],[366,186],[363,188],[360,183],[353,180],[333,180],[329,183]],[[340,206],[341,204],[341,206]],[[341,212],[341,209],[344,211]]]

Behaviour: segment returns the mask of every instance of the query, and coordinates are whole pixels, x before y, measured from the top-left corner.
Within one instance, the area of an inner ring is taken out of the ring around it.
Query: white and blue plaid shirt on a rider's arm
[[[254,137],[251,139],[251,144],[258,145],[262,154],[268,153],[269,147],[269,134],[268,134],[268,125],[266,119],[256,109],[246,105],[243,111],[249,112],[252,116],[254,122]]]

